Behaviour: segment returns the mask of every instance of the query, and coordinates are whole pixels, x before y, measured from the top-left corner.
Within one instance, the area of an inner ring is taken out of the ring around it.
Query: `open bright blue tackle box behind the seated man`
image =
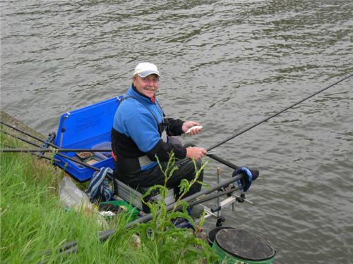
[[[96,168],[114,168],[112,158],[111,130],[114,115],[119,106],[118,97],[95,103],[84,108],[64,113],[60,117],[54,144],[61,149],[108,149],[107,152],[95,152],[93,156],[82,159],[75,152],[63,152],[64,155],[83,161]],[[55,158],[60,168],[79,182],[90,180],[95,170],[70,161],[59,155]]]

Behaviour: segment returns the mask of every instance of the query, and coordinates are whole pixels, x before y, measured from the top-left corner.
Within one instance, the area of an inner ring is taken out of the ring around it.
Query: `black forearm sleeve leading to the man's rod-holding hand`
[[[160,139],[159,142],[146,154],[151,161],[157,161],[156,156],[160,161],[169,161],[169,153],[174,152],[175,158],[185,158],[186,148],[179,144],[165,143]]]

